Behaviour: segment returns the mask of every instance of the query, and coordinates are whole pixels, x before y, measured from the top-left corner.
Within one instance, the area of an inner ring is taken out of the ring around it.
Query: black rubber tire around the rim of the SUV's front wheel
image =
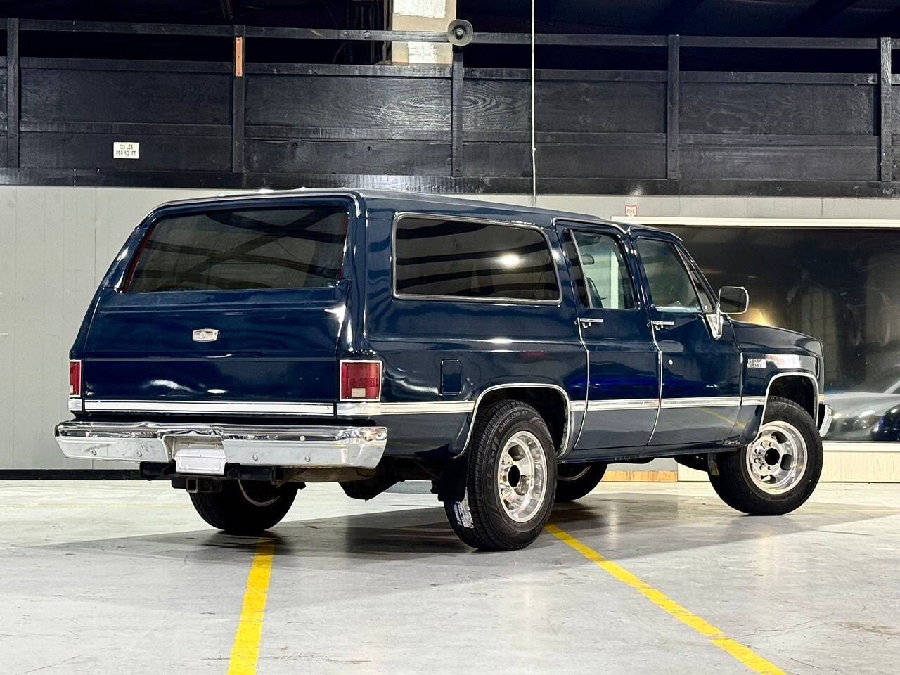
[[[806,444],[806,469],[788,490],[780,494],[763,491],[754,482],[748,455],[752,446],[734,453],[716,455],[716,466],[709,482],[725,503],[752,516],[780,516],[797,509],[809,499],[822,473],[822,438],[813,419],[794,401],[770,397],[763,425],[785,422],[803,437]]]

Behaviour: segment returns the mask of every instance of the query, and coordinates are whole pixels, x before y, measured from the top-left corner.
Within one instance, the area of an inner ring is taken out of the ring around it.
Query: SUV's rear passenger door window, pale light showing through
[[[566,234],[575,288],[585,307],[605,310],[635,308],[635,288],[616,239],[606,234],[572,230]]]

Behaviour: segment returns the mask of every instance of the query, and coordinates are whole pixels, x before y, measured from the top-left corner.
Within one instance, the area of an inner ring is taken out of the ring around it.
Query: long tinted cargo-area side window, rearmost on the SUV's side
[[[401,295],[559,299],[554,260],[537,229],[404,216],[397,220]]]

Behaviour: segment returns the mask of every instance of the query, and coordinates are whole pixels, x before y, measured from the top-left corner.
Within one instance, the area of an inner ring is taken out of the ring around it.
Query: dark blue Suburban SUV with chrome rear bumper
[[[432,481],[464,542],[526,546],[611,462],[674,457],[751,514],[822,467],[822,345],[730,318],[658,229],[450,197],[169,202],[103,278],[56,429],[211,526],[273,527],[307,482]]]

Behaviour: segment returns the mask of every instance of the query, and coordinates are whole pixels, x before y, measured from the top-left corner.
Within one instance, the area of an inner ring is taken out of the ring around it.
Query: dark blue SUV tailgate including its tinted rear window
[[[332,415],[346,207],[207,205],[148,224],[82,350],[86,412]]]

